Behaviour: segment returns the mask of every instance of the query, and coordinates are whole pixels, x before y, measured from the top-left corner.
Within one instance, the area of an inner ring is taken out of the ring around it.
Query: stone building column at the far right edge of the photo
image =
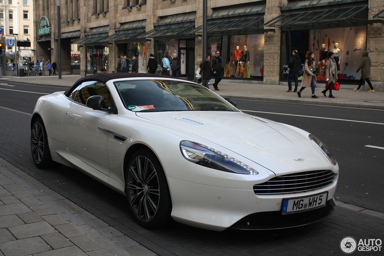
[[[382,0],[369,0],[368,20],[384,8]],[[367,52],[371,58],[371,81],[376,91],[384,91],[384,25],[382,23],[368,24]]]

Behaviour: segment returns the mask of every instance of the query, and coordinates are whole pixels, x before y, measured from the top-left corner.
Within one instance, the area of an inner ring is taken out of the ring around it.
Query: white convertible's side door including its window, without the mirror
[[[86,81],[69,94],[70,103],[63,111],[63,133],[68,150],[79,160],[109,175],[107,142],[109,124],[117,115],[86,106],[90,96],[104,97],[105,108],[113,105],[111,93],[104,83]]]

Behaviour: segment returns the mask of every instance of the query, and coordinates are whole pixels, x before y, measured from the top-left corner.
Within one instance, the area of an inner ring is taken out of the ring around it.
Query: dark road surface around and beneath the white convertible
[[[365,232],[357,226],[365,226],[362,221],[367,217],[360,218],[341,208],[319,223],[276,231],[215,232],[178,223],[160,230],[144,229],[132,221],[126,198],[121,194],[73,168],[57,165],[40,170],[33,164],[30,156],[30,114],[37,98],[42,95],[39,93],[63,91],[63,88],[8,85],[15,86],[0,85],[0,156],[158,255],[329,255],[340,252],[339,242],[345,235]],[[237,100],[237,103],[238,108],[247,110],[247,113],[295,125],[318,136],[332,149],[341,167],[337,199],[384,212],[383,151],[364,147],[384,146],[382,125],[373,124],[384,123],[384,111],[242,100]],[[365,234],[371,233],[360,236]]]

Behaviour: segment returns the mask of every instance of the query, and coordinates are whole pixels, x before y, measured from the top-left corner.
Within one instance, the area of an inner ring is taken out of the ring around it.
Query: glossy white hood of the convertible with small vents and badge
[[[242,112],[137,112],[137,116],[204,138],[278,176],[331,168],[323,153],[308,140],[308,135],[303,136],[281,123]],[[204,141],[195,142],[204,144]]]

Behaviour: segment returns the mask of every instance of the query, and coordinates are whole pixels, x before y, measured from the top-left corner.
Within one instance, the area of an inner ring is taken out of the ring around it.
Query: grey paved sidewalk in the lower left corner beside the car
[[[3,158],[0,164],[0,255],[156,255]]]

